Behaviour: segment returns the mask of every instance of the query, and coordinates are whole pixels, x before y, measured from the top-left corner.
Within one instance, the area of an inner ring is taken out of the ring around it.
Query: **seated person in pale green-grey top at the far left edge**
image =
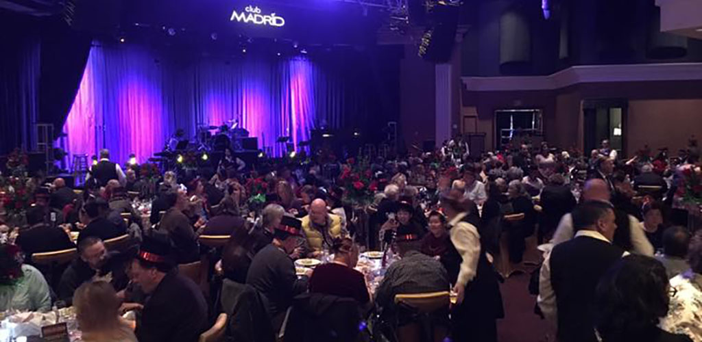
[[[0,311],[48,311],[51,296],[44,275],[24,264],[16,245],[0,245]]]

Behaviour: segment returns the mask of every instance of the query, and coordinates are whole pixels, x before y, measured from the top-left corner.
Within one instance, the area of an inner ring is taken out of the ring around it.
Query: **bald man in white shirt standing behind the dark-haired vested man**
[[[609,202],[610,196],[609,185],[603,179],[590,179],[588,182],[585,182],[582,198],[583,201],[597,200],[600,202],[609,203],[611,205]],[[616,210],[616,208],[614,209],[618,221],[617,226],[619,227],[619,232],[613,241],[614,244],[620,245],[620,247],[628,250],[629,252],[653,257],[654,247],[646,238],[646,233],[644,233],[644,228],[641,222],[635,217],[626,214],[625,212],[621,212],[621,210]],[[627,230],[628,234],[625,233]],[[561,242],[570,240],[574,235],[573,218],[571,217],[571,214],[565,214],[559,222],[556,232],[553,234],[551,243],[553,245],[558,245]],[[626,235],[628,235],[630,240],[621,241],[617,238],[618,236],[625,237]]]

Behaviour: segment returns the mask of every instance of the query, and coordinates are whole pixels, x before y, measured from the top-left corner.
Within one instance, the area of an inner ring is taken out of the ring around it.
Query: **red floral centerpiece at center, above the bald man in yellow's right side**
[[[354,205],[367,205],[373,201],[378,191],[378,181],[367,165],[357,164],[353,158],[346,160],[338,179],[344,189],[345,200]]]

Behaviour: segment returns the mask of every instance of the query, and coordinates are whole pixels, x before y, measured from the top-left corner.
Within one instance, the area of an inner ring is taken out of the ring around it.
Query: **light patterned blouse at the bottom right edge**
[[[670,308],[661,329],[702,342],[702,275],[687,271],[670,280]]]

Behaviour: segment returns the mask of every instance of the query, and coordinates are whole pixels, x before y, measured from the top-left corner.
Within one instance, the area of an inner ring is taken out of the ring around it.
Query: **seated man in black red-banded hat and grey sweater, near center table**
[[[301,231],[302,222],[285,214],[279,226],[274,228],[272,242],[256,253],[246,275],[246,284],[263,296],[275,330],[281,327],[293,297],[307,289],[308,277],[298,279],[289,257],[298,247]]]

